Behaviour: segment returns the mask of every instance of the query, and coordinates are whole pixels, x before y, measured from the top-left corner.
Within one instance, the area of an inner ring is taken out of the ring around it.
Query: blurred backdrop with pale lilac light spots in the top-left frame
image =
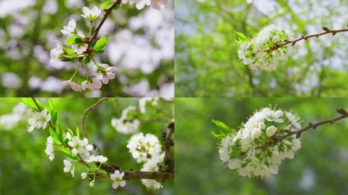
[[[61,82],[69,80],[77,62],[50,63],[49,51],[68,39],[61,33],[69,20],[88,35],[90,23],[82,7],[101,0],[0,0],[0,96],[174,96],[173,1],[162,11],[126,4],[108,16],[98,38],[107,36],[98,62],[118,67],[117,79],[100,90],[75,92]],[[103,14],[99,17],[102,18]],[[99,21],[98,20],[98,21]],[[97,21],[97,22],[98,22]],[[93,62],[89,64],[92,70]],[[84,69],[80,69],[86,75]],[[77,83],[85,78],[79,76]]]

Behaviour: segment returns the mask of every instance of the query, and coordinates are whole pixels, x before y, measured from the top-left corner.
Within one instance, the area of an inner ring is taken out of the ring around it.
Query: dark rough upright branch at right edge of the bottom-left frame
[[[174,173],[174,156],[170,151],[170,146],[174,146],[174,141],[171,139],[174,133],[174,122],[168,124],[168,132],[163,132],[162,139],[164,143],[164,165],[165,172]]]

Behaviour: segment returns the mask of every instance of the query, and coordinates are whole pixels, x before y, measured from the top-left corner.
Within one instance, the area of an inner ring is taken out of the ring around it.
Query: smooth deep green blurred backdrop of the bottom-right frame
[[[347,194],[348,118],[303,133],[294,159],[283,160],[270,179],[243,179],[222,165],[211,120],[238,129],[269,104],[298,113],[302,126],[339,116],[337,108],[348,110],[348,99],[177,98],[176,194]]]

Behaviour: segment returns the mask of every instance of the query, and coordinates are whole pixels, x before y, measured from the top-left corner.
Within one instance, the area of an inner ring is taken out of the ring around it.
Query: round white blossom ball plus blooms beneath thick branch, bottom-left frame
[[[162,163],[164,153],[158,138],[153,134],[142,133],[133,135],[127,144],[129,152],[137,163],[144,163],[140,171],[158,171],[158,164]],[[162,188],[162,184],[154,179],[141,179],[148,189]]]

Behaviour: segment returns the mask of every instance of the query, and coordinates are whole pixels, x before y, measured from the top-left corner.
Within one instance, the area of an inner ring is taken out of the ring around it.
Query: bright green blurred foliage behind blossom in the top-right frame
[[[269,24],[301,35],[348,24],[346,0],[177,0],[178,97],[346,97],[348,32],[296,44],[276,71],[250,71],[237,56],[235,31],[252,37]]]

